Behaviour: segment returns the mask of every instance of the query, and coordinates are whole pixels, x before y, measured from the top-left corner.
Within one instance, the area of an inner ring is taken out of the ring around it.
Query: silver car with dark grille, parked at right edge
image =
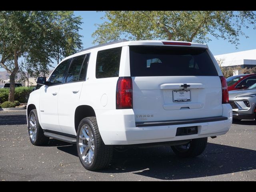
[[[256,83],[244,90],[229,91],[233,120],[254,119],[256,114]]]

